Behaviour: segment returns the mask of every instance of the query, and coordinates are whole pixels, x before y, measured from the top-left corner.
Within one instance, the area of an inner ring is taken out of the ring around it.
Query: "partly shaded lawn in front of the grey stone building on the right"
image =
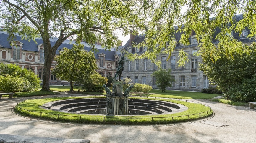
[[[164,97],[164,98],[177,98],[177,99],[210,99],[221,94],[207,94],[201,92],[188,92],[188,91],[174,91],[166,90],[166,92],[161,92],[158,89],[152,89],[149,93],[149,97]]]

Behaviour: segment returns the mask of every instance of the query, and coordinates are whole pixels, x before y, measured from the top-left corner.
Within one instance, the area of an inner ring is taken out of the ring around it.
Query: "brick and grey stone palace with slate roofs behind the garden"
[[[236,20],[239,21],[242,19],[242,15],[237,15]],[[218,29],[216,29],[218,32]],[[232,32],[231,36],[238,39],[238,41],[242,41],[245,44],[250,44],[255,42],[256,40],[251,40],[247,38],[247,35],[250,33],[249,29],[244,29],[242,32],[235,33]],[[21,40],[20,36],[16,36],[16,46],[10,41],[7,41],[7,37],[9,35],[5,32],[0,32],[0,62],[1,63],[12,63],[17,64],[22,68],[26,68],[28,70],[32,70],[35,74],[38,75],[40,79],[43,79],[44,76],[44,50],[43,50],[43,41],[40,38],[35,39],[37,44],[34,41],[26,41]],[[176,90],[191,90],[191,91],[201,91],[203,88],[209,87],[208,77],[198,69],[198,65],[202,62],[201,56],[195,56],[193,53],[197,52],[200,47],[198,46],[198,41],[195,38],[195,32],[191,32],[191,36],[189,38],[190,45],[184,46],[179,43],[179,39],[181,38],[180,33],[175,34],[176,39],[176,47],[175,50],[171,53],[171,58],[166,61],[169,55],[160,54],[157,56],[157,59],[161,61],[162,69],[171,69],[171,75],[174,79],[172,81],[172,87],[169,89]],[[218,44],[218,41],[214,40],[213,43]],[[105,77],[114,77],[116,72],[116,68],[118,66],[118,61],[121,56],[125,56],[125,53],[137,53],[141,54],[146,51],[146,48],[141,47],[140,49],[132,47],[132,42],[140,43],[145,39],[145,35],[132,35],[130,34],[130,39],[127,41],[124,46],[120,46],[120,51],[115,52],[115,49],[111,49],[110,51],[105,51],[101,48],[101,45],[96,45],[98,52],[95,53],[96,64],[98,66],[98,70],[96,70],[99,74]],[[57,38],[52,38],[51,42],[56,42]],[[56,51],[56,55],[59,54],[59,51],[63,49],[63,47],[67,47],[69,49],[72,48],[74,41],[66,40]],[[90,51],[90,47],[84,44],[84,49]],[[184,49],[184,52],[188,54],[189,62],[185,66],[178,66],[177,61],[179,60],[179,50]],[[127,63],[124,64],[124,71],[121,79],[124,77],[128,77],[132,80],[133,83],[142,83],[148,84],[153,88],[156,87],[156,78],[151,74],[158,70],[158,67],[151,62],[150,59],[136,59],[130,60],[128,58]],[[52,61],[52,68],[57,63]],[[62,81],[55,75],[51,74],[50,79],[51,85],[65,85],[69,84],[67,81]]]

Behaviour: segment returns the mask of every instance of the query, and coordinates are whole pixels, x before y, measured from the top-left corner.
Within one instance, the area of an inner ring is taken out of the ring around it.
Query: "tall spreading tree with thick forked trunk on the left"
[[[129,29],[143,21],[137,13],[136,1],[102,0],[1,0],[0,22],[15,41],[15,33],[35,41],[42,37],[44,46],[44,79],[42,90],[50,90],[51,63],[57,48],[66,39],[80,34],[95,49],[95,42],[110,49],[117,47],[115,32]],[[129,29],[128,29],[129,28]],[[56,43],[51,37],[59,36]]]

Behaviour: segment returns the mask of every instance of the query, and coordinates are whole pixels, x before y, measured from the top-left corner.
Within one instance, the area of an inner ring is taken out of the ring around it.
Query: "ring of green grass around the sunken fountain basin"
[[[41,105],[65,99],[78,99],[78,98],[105,98],[104,96],[98,97],[49,97],[49,98],[35,98],[24,100],[19,102],[14,111],[23,116],[36,117],[46,120],[54,120],[60,122],[76,122],[76,123],[92,123],[92,124],[167,124],[176,122],[192,121],[200,118],[209,117],[213,114],[213,111],[205,104],[199,102],[194,103],[193,101],[185,100],[171,100],[171,99],[159,99],[159,98],[138,98],[130,97],[131,99],[148,99],[148,100],[159,100],[173,102],[187,106],[189,109],[180,113],[164,114],[164,115],[131,115],[131,116],[114,116],[114,115],[86,115],[86,114],[71,114],[53,110],[46,110],[40,108]],[[190,103],[193,102],[193,103]],[[200,112],[198,112],[198,109]]]

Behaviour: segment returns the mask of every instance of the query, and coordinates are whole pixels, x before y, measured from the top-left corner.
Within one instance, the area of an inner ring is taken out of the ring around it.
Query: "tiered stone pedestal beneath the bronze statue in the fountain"
[[[106,95],[108,115],[127,115],[128,97],[123,94],[123,81],[112,81],[112,94]]]

